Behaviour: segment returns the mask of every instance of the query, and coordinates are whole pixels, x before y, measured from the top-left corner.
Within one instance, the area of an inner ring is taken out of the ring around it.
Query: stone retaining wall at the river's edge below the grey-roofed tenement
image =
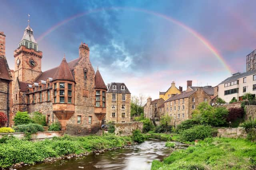
[[[139,129],[142,131],[143,123],[142,122],[127,122],[127,123],[115,123],[115,134],[120,136],[129,136],[132,135],[132,131]]]

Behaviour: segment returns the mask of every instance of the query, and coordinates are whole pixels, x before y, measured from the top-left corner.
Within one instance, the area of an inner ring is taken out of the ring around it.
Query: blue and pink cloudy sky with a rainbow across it
[[[253,0],[1,0],[0,31],[6,58],[30,27],[43,52],[42,71],[64,54],[78,58],[82,42],[90,48],[94,70],[105,83],[124,82],[132,95],[152,99],[172,81],[186,90],[216,86],[244,72],[246,55],[256,48]]]

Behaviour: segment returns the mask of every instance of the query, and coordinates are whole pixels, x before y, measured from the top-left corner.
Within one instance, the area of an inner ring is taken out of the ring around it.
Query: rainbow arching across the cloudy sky
[[[71,20],[75,20],[76,18],[85,16],[87,14],[91,14],[91,13],[96,13],[96,12],[101,12],[101,11],[108,11],[108,10],[132,10],[132,11],[136,11],[136,12],[143,12],[146,14],[150,14],[150,15],[154,15],[154,16],[158,16],[160,18],[163,18],[165,20],[171,21],[172,23],[182,27],[183,29],[185,29],[186,31],[188,31],[189,33],[191,33],[194,37],[196,37],[196,39],[198,39],[199,41],[202,42],[202,44],[211,51],[211,53],[218,59],[218,61],[220,61],[220,63],[222,63],[222,65],[226,68],[226,70],[228,70],[229,73],[231,73],[233,70],[232,68],[226,63],[226,61],[224,60],[224,58],[220,55],[220,53],[218,52],[218,50],[209,42],[207,41],[202,35],[200,35],[198,32],[196,32],[194,29],[188,27],[187,25],[185,25],[184,23],[175,20],[174,18],[171,18],[169,16],[166,16],[164,14],[160,14],[157,12],[153,12],[153,11],[149,11],[149,10],[144,10],[141,8],[128,8],[128,7],[110,7],[110,8],[98,8],[95,10],[90,10],[88,12],[83,12],[80,14],[76,14],[74,16],[71,16],[69,18],[66,18],[63,21],[60,21],[59,23],[57,23],[56,25],[54,25],[53,27],[51,27],[50,29],[48,29],[46,32],[42,33],[42,35],[40,35],[38,37],[38,39],[36,39],[37,42],[41,41],[42,39],[44,39],[44,37],[46,37],[48,34],[50,34],[51,32],[53,32],[54,30],[56,30],[58,27],[64,25],[65,23],[68,23]]]

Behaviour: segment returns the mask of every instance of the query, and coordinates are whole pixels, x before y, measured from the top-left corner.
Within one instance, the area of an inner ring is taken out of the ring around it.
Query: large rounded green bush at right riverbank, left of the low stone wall
[[[195,140],[203,140],[207,137],[215,136],[215,133],[216,131],[210,126],[197,125],[182,131],[180,139],[182,141],[192,142]]]

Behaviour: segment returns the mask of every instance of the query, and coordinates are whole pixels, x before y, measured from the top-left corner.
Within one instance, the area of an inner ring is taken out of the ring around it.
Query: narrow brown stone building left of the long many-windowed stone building
[[[144,105],[144,117],[152,120],[153,122],[160,120],[160,117],[163,115],[163,104],[163,98],[153,101],[151,98],[148,98],[146,104]]]

